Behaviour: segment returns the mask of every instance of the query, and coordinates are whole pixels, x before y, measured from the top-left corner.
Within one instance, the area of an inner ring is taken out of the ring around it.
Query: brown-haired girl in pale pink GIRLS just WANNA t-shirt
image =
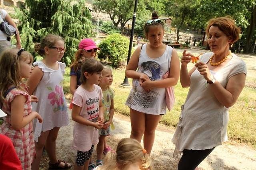
[[[74,124],[73,148],[77,150],[75,170],[87,170],[94,145],[98,143],[98,129],[104,125],[102,90],[103,65],[95,59],[81,64],[81,86],[74,92],[72,120]]]

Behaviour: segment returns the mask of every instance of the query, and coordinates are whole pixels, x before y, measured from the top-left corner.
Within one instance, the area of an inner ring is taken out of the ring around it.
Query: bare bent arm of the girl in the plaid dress
[[[34,118],[37,118],[40,123],[42,122],[42,117],[36,111],[32,111],[29,115],[23,117],[25,102],[26,98],[23,95],[18,95],[12,100],[11,124],[15,130],[20,130],[22,127],[30,123],[30,121],[32,121]]]

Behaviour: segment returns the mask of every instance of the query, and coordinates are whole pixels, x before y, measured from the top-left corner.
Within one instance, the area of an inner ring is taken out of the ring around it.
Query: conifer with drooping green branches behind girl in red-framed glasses
[[[92,18],[85,0],[26,0],[26,9],[16,8],[22,46],[33,52],[34,42],[48,33],[64,37],[66,53],[62,61],[71,63],[81,39],[92,35]]]

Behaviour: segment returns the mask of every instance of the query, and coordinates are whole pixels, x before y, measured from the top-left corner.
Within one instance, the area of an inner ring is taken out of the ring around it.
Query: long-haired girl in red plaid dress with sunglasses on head
[[[12,140],[23,170],[30,170],[36,156],[32,120],[42,123],[42,117],[32,111],[30,95],[23,78],[33,70],[32,55],[24,49],[7,49],[0,57],[0,103],[7,114],[0,133]],[[34,101],[37,101],[34,98]]]

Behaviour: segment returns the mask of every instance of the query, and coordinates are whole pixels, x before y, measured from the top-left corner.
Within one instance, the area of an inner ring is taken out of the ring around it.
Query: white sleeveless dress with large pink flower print
[[[41,132],[49,131],[54,127],[62,127],[69,124],[68,111],[63,92],[63,75],[66,65],[58,62],[59,69],[48,68],[42,61],[36,61],[44,72],[34,95],[38,97],[38,103],[33,102],[33,111],[37,111],[43,118],[43,123],[34,119],[34,139],[38,142]]]

